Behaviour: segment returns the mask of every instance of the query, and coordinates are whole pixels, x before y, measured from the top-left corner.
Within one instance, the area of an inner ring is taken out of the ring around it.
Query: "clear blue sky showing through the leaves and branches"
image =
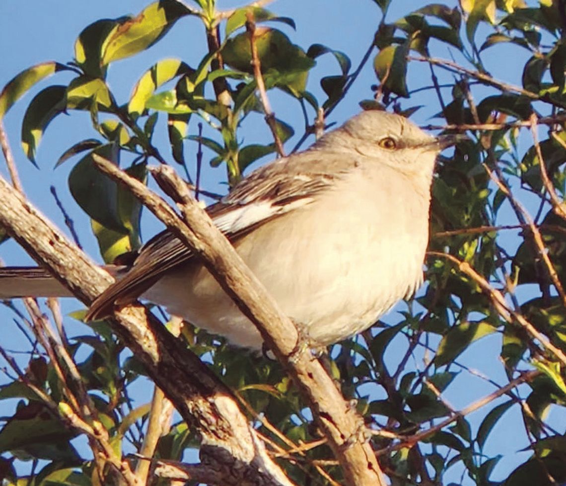
[[[5,85],[14,75],[28,66],[54,59],[59,62],[67,62],[72,59],[72,46],[78,33],[89,23],[100,18],[115,18],[124,14],[135,14],[140,11],[146,1],[142,0],[121,0],[119,2],[110,0],[97,0],[96,2],[77,2],[69,0],[49,0],[41,2],[38,0],[3,0],[0,5],[0,59],[2,59],[0,69],[0,86]],[[402,14],[406,14],[415,8],[426,5],[428,2],[417,0],[393,0],[388,18],[396,19]],[[456,5],[456,2],[447,2],[449,5]],[[234,6],[241,6],[243,2],[218,1],[218,8],[224,10]],[[371,0],[339,1],[339,0],[309,0],[308,2],[297,2],[296,0],[279,0],[269,5],[270,10],[282,16],[289,16],[295,19],[297,31],[293,32],[290,28],[281,27],[291,37],[293,42],[307,49],[309,45],[320,42],[333,49],[344,51],[350,56],[353,65],[358,62],[365,53],[368,45],[373,38],[374,31],[380,22],[381,15],[379,9]],[[153,46],[147,52],[141,53],[132,59],[119,61],[111,66],[109,72],[109,83],[119,103],[127,100],[131,88],[135,81],[143,74],[148,66],[158,59],[165,57],[179,57],[192,66],[196,66],[203,56],[204,48],[204,29],[196,19],[182,19],[179,21],[165,39]],[[512,53],[512,55],[509,55]],[[455,55],[448,49],[440,50],[439,57],[450,58]],[[488,60],[491,74],[500,79],[517,83],[518,76],[522,69],[525,59],[521,58],[521,51],[517,48],[505,50],[503,46],[494,48]],[[491,57],[490,57],[491,56]],[[337,74],[337,65],[330,56],[319,58],[318,64],[310,76],[308,88],[316,95],[323,98],[322,91],[318,85],[318,79],[327,74]],[[58,74],[61,82],[68,82],[70,74]],[[411,88],[421,86],[428,82],[428,68],[421,64],[411,65],[409,71],[409,81]],[[450,80],[450,79],[448,79]],[[53,78],[42,84],[46,86],[53,82]],[[358,103],[362,99],[372,96],[371,84],[376,83],[375,74],[371,67],[371,62],[362,71],[353,89],[340,106],[333,112],[331,120],[342,122],[349,116],[359,111]],[[410,100],[406,106],[415,104],[427,104],[428,97],[435,96],[432,92],[423,92],[415,100]],[[290,103],[289,98],[281,95],[271,95],[270,98],[273,110],[277,116],[293,124],[302,126],[302,115],[299,105]],[[67,174],[72,167],[72,161],[64,164],[61,168],[53,170],[55,160],[76,140],[89,138],[94,135],[87,114],[72,113],[71,116],[60,116],[49,126],[42,144],[38,151],[38,165],[40,169],[32,166],[19,146],[20,123],[24,110],[31,100],[31,95],[27,95],[23,100],[12,108],[5,118],[5,125],[22,182],[29,198],[49,218],[53,219],[59,227],[64,227],[63,219],[57,210],[52,196],[49,193],[49,186],[57,188],[65,208],[70,212],[75,224],[78,227],[80,240],[85,249],[94,257],[99,258],[94,238],[91,236],[85,215],[76,206],[76,203],[68,195]],[[425,108],[416,118],[418,122],[428,123],[427,120],[434,113],[434,110]],[[164,133],[164,121],[161,120],[161,129],[157,133]],[[190,133],[196,133],[195,126],[190,127]],[[212,135],[209,133],[208,135]],[[258,122],[247,129],[244,136],[247,142],[269,139],[269,132],[264,123],[258,118]],[[300,136],[300,133],[299,133]],[[288,147],[293,147],[295,139],[291,139]],[[158,139],[163,147],[166,147],[165,137],[161,135]],[[192,146],[186,145],[187,153],[190,154]],[[162,150],[166,154],[166,149]],[[206,159],[205,159],[206,160]],[[3,164],[0,164],[0,173],[6,175]],[[204,186],[214,191],[224,191],[220,182],[224,180],[222,169],[209,168],[204,166]],[[147,240],[153,233],[160,229],[160,224],[151,217],[144,219],[143,235]],[[512,242],[510,242],[512,245]],[[31,263],[27,255],[14,242],[7,242],[0,247],[0,257],[7,265]],[[66,303],[66,309],[78,308],[78,304]],[[402,309],[403,305],[397,309]],[[395,317],[393,317],[394,319]],[[5,323],[8,326],[8,323]],[[74,324],[75,325],[75,324]],[[3,346],[13,349],[23,349],[21,336],[11,333],[3,338]],[[494,377],[501,383],[505,382],[502,366],[497,360],[488,361],[488,356],[496,356],[500,346],[496,339],[484,339],[474,344],[468,352],[461,356],[461,361],[469,366],[478,369],[480,372]],[[396,346],[389,348],[389,360],[395,363],[396,355],[399,351]],[[415,363],[415,366],[422,364]],[[455,408],[461,408],[475,399],[493,391],[493,387],[479,378],[466,375],[465,380],[459,378],[449,389],[447,397]],[[368,390],[369,392],[369,390]],[[374,393],[374,391],[371,391]],[[143,399],[143,398],[140,398]],[[149,397],[148,397],[149,399]],[[2,404],[0,403],[0,414],[3,415]],[[484,416],[486,411],[477,412],[471,415],[472,423],[477,424]],[[554,413],[554,412],[553,412]],[[557,417],[558,420],[558,417]],[[487,453],[505,454],[505,458],[500,462],[494,472],[492,479],[503,479],[508,472],[517,465],[517,461],[524,460],[528,453],[515,454],[520,447],[526,445],[524,432],[517,428],[517,423],[521,423],[520,415],[517,410],[512,410],[504,416],[504,419],[495,430],[494,436],[487,445]],[[459,475],[454,473],[453,480],[457,480]]]

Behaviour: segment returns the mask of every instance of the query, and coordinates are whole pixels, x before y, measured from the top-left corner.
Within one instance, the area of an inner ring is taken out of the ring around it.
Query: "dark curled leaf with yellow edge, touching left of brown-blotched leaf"
[[[101,19],[83,29],[75,41],[75,62],[84,74],[92,78],[105,78],[106,68],[102,66],[102,45],[115,27],[128,18]]]

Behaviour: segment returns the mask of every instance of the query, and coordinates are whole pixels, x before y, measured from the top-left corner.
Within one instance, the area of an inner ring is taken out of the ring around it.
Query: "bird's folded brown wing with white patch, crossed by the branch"
[[[209,206],[208,215],[230,241],[237,241],[258,225],[305,206],[336,178],[314,170],[299,170],[301,166],[316,167],[315,152],[302,152],[255,170],[221,202]],[[135,300],[165,272],[190,258],[192,251],[173,233],[158,233],[140,249],[130,270],[93,302],[87,319],[105,317],[114,304]]]

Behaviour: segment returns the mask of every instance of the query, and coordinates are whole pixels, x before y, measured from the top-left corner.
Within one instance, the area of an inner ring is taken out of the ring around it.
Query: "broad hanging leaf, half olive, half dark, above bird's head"
[[[374,59],[375,74],[383,87],[405,98],[409,97],[406,84],[408,54],[409,42],[404,42],[381,49]]]

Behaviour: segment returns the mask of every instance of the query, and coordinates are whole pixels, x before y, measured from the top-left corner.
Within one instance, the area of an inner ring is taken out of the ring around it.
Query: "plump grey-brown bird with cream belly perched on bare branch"
[[[207,212],[282,311],[327,346],[368,329],[423,283],[435,160],[457,140],[433,137],[400,114],[365,110],[307,150],[255,169]],[[132,263],[106,268],[116,281],[88,320],[141,297],[235,346],[263,346],[168,230]],[[41,268],[0,268],[0,299],[65,295]]]

